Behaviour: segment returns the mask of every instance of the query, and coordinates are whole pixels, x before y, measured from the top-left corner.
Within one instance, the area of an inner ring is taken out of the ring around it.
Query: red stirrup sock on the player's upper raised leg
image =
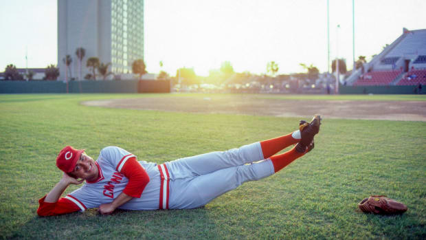
[[[272,138],[269,140],[265,140],[260,142],[260,146],[262,147],[263,157],[267,159],[272,155],[278,153],[282,149],[287,148],[287,146],[291,146],[300,141],[300,132],[295,131],[293,133],[289,133],[287,135],[283,135],[278,138]]]

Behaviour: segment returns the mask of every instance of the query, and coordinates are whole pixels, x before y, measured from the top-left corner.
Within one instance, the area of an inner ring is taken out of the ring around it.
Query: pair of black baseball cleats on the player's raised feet
[[[321,117],[315,114],[311,122],[305,122],[303,120],[299,123],[299,130],[302,139],[296,145],[296,151],[304,153],[306,149],[311,151],[313,149],[313,137],[320,132]]]

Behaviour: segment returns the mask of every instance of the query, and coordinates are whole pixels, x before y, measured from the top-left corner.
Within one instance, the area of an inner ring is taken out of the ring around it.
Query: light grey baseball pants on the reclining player
[[[169,209],[199,208],[244,182],[275,173],[271,160],[264,160],[260,142],[184,157],[166,166],[170,174]]]

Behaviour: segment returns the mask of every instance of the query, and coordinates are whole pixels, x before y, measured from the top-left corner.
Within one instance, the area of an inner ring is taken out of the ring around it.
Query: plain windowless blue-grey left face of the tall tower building
[[[111,61],[111,0],[58,0],[58,67],[59,80],[65,80],[63,58],[72,58],[69,78],[80,78],[78,47],[86,50],[82,59],[81,77],[91,71],[87,59],[98,57],[102,63]]]

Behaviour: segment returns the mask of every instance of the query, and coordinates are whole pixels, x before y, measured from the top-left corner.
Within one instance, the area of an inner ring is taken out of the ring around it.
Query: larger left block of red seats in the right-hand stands
[[[396,71],[380,71],[368,72],[359,77],[354,86],[380,86],[389,85],[397,76],[401,74],[401,70]]]

